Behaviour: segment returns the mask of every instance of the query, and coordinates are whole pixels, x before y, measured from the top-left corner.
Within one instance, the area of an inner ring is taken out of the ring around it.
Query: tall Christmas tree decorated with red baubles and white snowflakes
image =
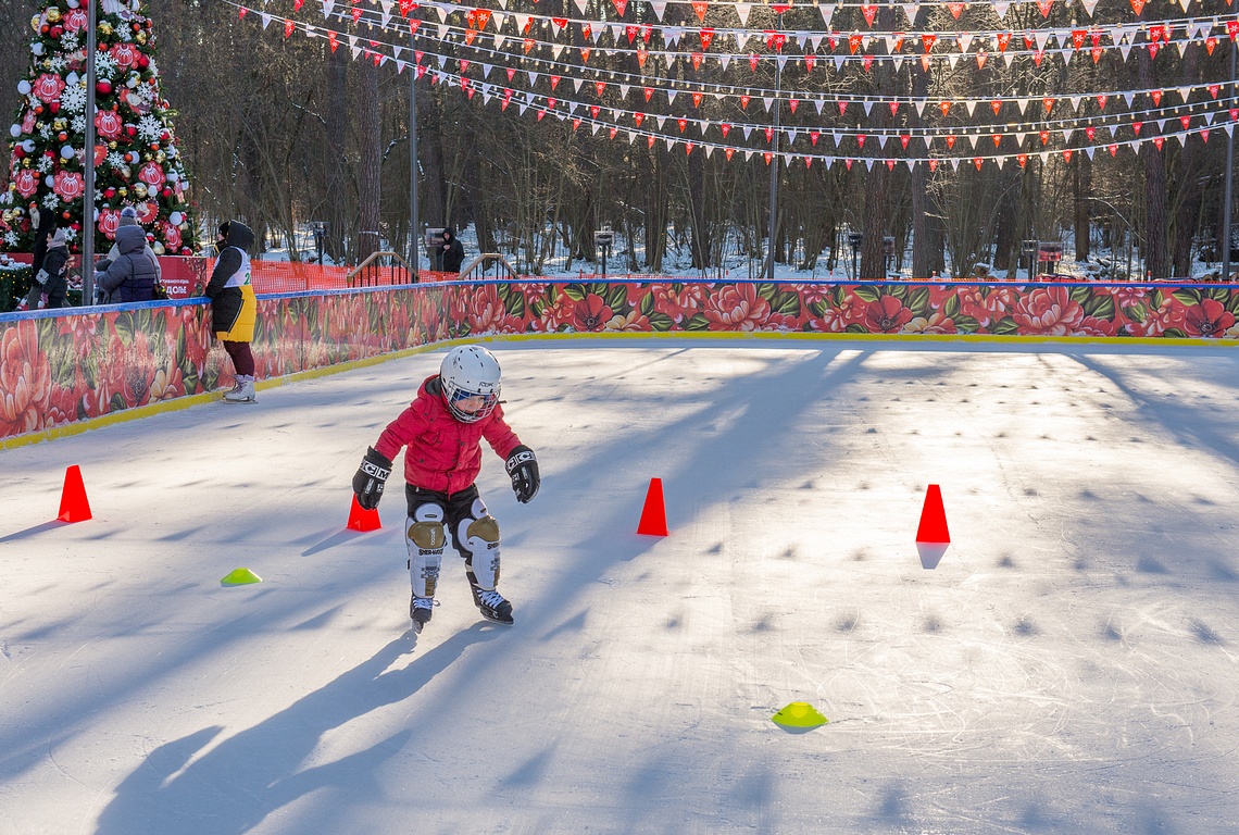
[[[15,0],[16,1],[16,0]],[[10,129],[9,186],[0,195],[0,249],[30,250],[31,208],[79,251],[84,204],[88,0],[50,0],[31,20],[30,73]],[[97,0],[95,251],[107,251],[133,206],[156,254],[188,254],[188,186],[160,92],[155,35],[140,0]],[[50,228],[45,223],[45,228]]]

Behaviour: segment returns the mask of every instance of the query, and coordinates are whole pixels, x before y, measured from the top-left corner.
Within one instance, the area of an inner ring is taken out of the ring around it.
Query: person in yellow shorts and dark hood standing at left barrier
[[[216,239],[219,259],[211,273],[206,294],[211,299],[212,328],[224,343],[237,374],[237,385],[224,395],[224,403],[258,401],[254,395],[254,353],[249,349],[258,318],[258,299],[249,266],[253,245],[254,233],[240,221],[219,224]]]

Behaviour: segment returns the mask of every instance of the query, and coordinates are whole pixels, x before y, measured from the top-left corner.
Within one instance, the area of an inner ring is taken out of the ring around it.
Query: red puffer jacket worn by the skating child
[[[379,435],[374,450],[395,461],[401,447],[404,479],[414,487],[456,493],[477,479],[482,471],[482,439],[507,460],[520,439],[503,420],[496,405],[486,418],[466,424],[452,418],[444,400],[439,374],[427,377],[418,398]]]

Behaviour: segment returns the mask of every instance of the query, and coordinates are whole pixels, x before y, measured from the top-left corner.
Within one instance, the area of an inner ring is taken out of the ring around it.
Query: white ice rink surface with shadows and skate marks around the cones
[[[1239,830],[1235,349],[492,348],[509,628],[344,528],[442,351],[0,451],[0,833]]]

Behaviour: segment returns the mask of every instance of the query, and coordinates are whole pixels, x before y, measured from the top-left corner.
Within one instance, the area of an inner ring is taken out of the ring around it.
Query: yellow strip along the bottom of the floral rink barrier
[[[445,339],[441,342],[434,342],[425,346],[419,346],[416,348],[408,348],[404,351],[395,351],[379,357],[368,357],[366,359],[356,359],[336,365],[327,365],[325,368],[315,368],[304,372],[295,372],[284,377],[276,377],[266,380],[258,380],[255,388],[258,390],[266,390],[279,388],[281,385],[289,385],[292,383],[300,383],[302,380],[316,379],[320,377],[327,377],[328,374],[338,374],[342,372],[349,372],[358,368],[367,368],[369,365],[377,365],[379,363],[385,363],[393,359],[400,359],[404,357],[411,357],[420,353],[431,353],[435,351],[441,351],[444,348],[451,348],[457,344],[470,344],[470,343],[493,343],[493,342],[564,342],[564,341],[624,341],[624,342],[642,342],[642,341],[668,341],[668,339],[693,339],[703,342],[717,342],[717,341],[741,341],[751,342],[753,339],[760,341],[776,341],[776,342],[883,342],[883,343],[947,343],[947,344],[976,344],[976,343],[1001,343],[1001,344],[1062,344],[1062,346],[1109,346],[1109,347],[1130,347],[1130,346],[1146,346],[1146,347],[1211,347],[1211,348],[1232,348],[1239,346],[1239,341],[1233,339],[1172,339],[1172,338],[1139,338],[1129,337],[1123,339],[1114,339],[1106,337],[1044,337],[1044,336],[992,336],[992,334],[900,334],[900,333],[783,333],[783,332],[756,332],[756,333],[729,333],[729,332],[674,332],[674,333],[624,333],[624,332],[607,332],[607,333],[518,333],[518,334],[501,334],[501,336],[478,336],[463,339]],[[71,437],[73,435],[81,435],[95,429],[103,429],[105,426],[113,426],[115,424],[140,420],[142,418],[150,418],[152,415],[161,415],[170,411],[180,411],[182,409],[190,409],[192,406],[198,406],[208,403],[218,403],[223,398],[223,391],[208,391],[206,394],[193,394],[183,398],[175,398],[172,400],[161,400],[159,403],[152,403],[145,406],[135,406],[133,409],[125,409],[123,411],[115,411],[99,418],[92,418],[88,420],[79,420],[72,424],[66,424],[63,426],[56,426],[55,429],[42,430],[37,432],[28,432],[26,435],[19,435],[16,437],[0,440],[0,450],[16,448],[19,446],[27,446],[31,444],[40,444],[42,441],[52,441],[59,437]]]

